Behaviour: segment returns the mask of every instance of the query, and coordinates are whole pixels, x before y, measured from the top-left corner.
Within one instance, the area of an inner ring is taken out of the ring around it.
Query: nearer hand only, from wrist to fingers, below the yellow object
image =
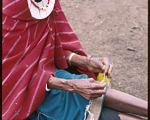
[[[93,78],[70,80],[73,91],[79,93],[88,100],[95,99],[105,93],[106,84],[103,81],[95,81]]]

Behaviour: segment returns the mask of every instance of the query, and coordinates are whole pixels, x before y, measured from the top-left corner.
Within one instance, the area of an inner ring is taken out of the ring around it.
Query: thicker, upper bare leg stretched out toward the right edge
[[[107,90],[104,105],[120,112],[148,116],[147,101],[115,89]]]

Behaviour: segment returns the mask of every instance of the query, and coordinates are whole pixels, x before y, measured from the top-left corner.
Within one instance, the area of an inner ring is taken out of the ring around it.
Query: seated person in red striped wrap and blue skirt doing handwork
[[[4,0],[2,118],[4,120],[86,120],[102,98],[99,120],[147,117],[147,101],[97,81],[111,77],[108,58],[82,48],[59,0]]]

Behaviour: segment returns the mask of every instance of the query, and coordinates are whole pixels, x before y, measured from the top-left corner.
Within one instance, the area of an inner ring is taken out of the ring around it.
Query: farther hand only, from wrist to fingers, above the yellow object
[[[104,74],[111,77],[113,64],[107,57],[88,57],[87,68],[89,71],[98,73],[103,72]]]

